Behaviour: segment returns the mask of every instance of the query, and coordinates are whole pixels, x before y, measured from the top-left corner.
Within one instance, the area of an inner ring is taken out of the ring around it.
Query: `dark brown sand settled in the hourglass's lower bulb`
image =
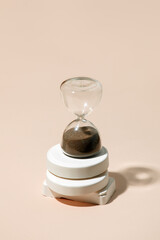
[[[63,134],[61,147],[67,155],[73,157],[94,155],[101,149],[99,133],[90,126],[70,128]]]

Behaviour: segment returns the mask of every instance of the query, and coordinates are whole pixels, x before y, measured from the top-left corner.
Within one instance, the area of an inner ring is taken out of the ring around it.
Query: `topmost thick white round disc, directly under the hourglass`
[[[71,179],[95,177],[108,169],[108,152],[105,147],[92,157],[73,158],[66,156],[60,144],[47,152],[47,169],[56,176]]]

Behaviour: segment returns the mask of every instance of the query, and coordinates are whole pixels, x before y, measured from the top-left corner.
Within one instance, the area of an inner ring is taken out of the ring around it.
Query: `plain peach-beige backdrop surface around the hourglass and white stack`
[[[160,239],[160,2],[0,1],[0,237]],[[101,81],[88,117],[110,154],[105,206],[41,195],[47,150],[75,117],[59,86]]]

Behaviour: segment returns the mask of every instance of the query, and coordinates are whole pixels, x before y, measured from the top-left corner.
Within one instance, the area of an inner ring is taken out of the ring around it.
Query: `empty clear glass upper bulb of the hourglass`
[[[78,117],[92,112],[102,96],[101,83],[88,77],[67,79],[62,82],[60,89],[66,107]]]

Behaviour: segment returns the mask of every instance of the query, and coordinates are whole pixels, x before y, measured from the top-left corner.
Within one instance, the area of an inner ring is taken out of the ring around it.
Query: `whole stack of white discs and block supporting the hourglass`
[[[94,204],[106,204],[115,191],[108,175],[109,158],[105,147],[88,158],[65,155],[60,144],[47,153],[47,173],[43,195]]]

